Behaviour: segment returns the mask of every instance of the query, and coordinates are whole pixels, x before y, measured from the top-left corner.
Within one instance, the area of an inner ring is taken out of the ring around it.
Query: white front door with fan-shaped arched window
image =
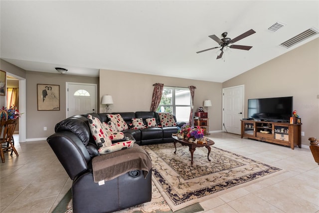
[[[66,82],[66,117],[97,112],[97,84]]]

